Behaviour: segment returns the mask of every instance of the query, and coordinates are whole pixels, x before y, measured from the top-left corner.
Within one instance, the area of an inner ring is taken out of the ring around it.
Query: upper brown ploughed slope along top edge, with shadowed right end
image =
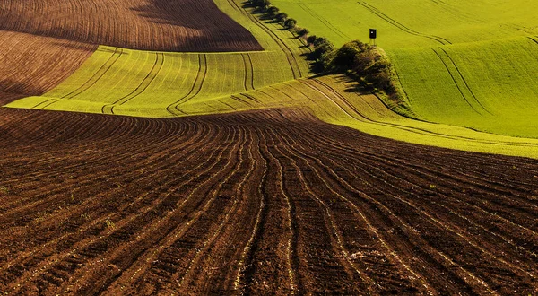
[[[120,48],[263,49],[212,0],[4,0],[0,30]]]

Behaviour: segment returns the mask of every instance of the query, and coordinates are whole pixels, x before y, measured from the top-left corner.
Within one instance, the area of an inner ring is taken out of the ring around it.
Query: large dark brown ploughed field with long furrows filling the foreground
[[[2,109],[0,153],[0,292],[538,292],[538,161],[294,109]]]

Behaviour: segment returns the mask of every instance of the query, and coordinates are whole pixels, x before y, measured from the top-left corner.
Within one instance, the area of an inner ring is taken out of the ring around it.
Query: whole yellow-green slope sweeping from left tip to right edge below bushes
[[[345,77],[293,80],[294,72],[308,74],[308,65],[299,58],[304,48],[299,48],[298,41],[290,39],[289,33],[278,30],[277,26],[265,24],[284,42],[279,46],[279,39],[273,39],[274,35],[268,34],[250,16],[229,2],[218,3],[222,10],[230,10],[226,13],[252,30],[267,50],[248,54],[161,54],[100,47],[76,74],[47,96],[18,100],[8,107],[109,113],[108,104],[119,100],[113,109],[115,114],[143,117],[300,108],[308,109],[325,122],[372,135],[415,144],[538,158],[538,140],[404,118],[387,109],[375,96],[354,91],[353,84]],[[297,58],[299,66],[295,65],[295,70],[290,66],[290,56],[282,51],[283,44]],[[248,60],[252,61],[254,72],[245,67]]]

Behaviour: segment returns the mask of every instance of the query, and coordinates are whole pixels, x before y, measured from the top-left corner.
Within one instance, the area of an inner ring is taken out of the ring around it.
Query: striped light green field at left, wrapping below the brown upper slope
[[[302,47],[290,31],[258,20],[240,1],[217,1],[253,32],[264,51],[163,53],[100,46],[54,90],[7,107],[165,118],[185,116],[189,100],[211,100],[309,74]]]

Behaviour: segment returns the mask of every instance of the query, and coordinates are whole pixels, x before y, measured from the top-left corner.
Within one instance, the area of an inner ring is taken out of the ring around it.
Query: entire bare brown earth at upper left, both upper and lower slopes
[[[98,47],[262,50],[212,0],[3,0],[0,103],[41,95]]]

